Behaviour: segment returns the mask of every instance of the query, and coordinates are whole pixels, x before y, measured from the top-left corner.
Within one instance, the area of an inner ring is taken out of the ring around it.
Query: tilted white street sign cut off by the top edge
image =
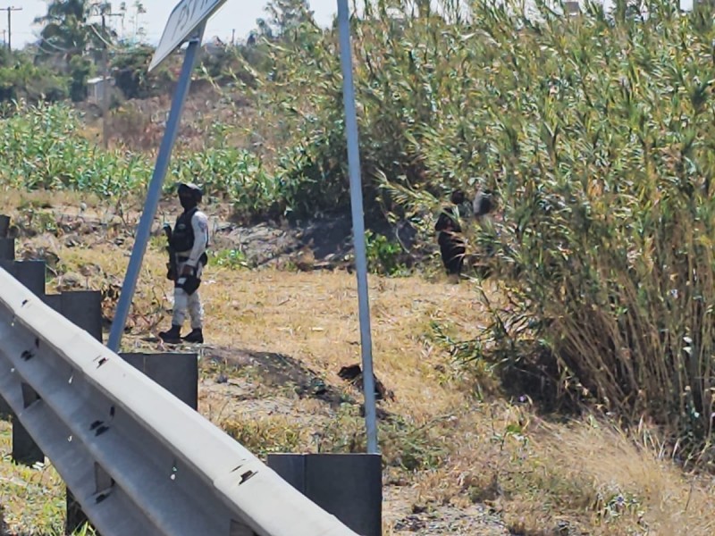
[[[225,3],[226,0],[181,0],[169,15],[164,34],[149,64],[149,72],[164,62],[169,54],[191,36],[199,24],[206,21]]]

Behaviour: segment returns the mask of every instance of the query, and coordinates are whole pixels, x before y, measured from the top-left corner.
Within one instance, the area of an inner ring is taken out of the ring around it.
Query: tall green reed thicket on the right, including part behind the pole
[[[512,387],[552,385],[550,396],[626,422],[647,415],[681,454],[706,453],[711,8],[441,7],[375,2],[352,21],[368,205],[427,233],[451,188],[491,188],[499,212],[475,226],[472,247],[507,305],[493,306],[472,355],[510,380],[532,374]],[[279,132],[264,141],[276,154],[289,144],[285,176],[337,206],[349,199],[337,30],[303,31],[256,75],[261,121]]]

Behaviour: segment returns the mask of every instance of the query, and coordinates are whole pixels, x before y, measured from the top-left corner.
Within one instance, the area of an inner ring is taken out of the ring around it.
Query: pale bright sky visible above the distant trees
[[[134,31],[132,8],[134,0],[125,0],[128,8],[127,17],[124,19],[124,32],[131,36]],[[120,1],[112,2],[115,11]],[[179,0],[142,0],[147,13],[142,15],[139,26],[146,30],[146,40],[156,45],[162,37],[162,31],[169,19],[169,14]],[[248,33],[256,28],[256,20],[265,18],[265,5],[267,0],[228,0],[223,7],[214,14],[206,26],[205,40],[214,36],[230,41],[233,30],[236,30],[236,39],[245,39]],[[315,12],[315,21],[321,26],[330,26],[332,18],[337,13],[336,0],[309,0],[310,9]],[[22,11],[12,13],[13,23],[13,48],[21,48],[37,40],[40,27],[33,25],[36,17],[47,12],[46,0],[2,0],[0,9],[7,6],[21,7]],[[122,34],[122,21],[118,17],[110,20],[113,28]],[[0,40],[4,40],[4,30],[7,29],[7,13],[0,11]]]

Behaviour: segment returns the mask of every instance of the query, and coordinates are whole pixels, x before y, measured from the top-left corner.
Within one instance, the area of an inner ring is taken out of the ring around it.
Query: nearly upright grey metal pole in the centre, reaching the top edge
[[[357,136],[355,88],[352,76],[352,50],[348,0],[338,0],[338,22],[341,38],[342,91],[345,104],[345,133],[348,141],[350,201],[352,205],[353,242],[357,270],[357,298],[360,310],[360,346],[363,358],[363,388],[365,390],[365,420],[367,453],[378,454],[377,417],[374,397],[372,337],[370,335],[370,304],[367,295],[367,256],[365,244],[365,214],[360,172],[360,149]]]

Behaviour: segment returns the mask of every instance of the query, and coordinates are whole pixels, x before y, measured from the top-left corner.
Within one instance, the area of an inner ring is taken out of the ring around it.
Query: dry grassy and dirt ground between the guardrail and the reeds
[[[16,225],[18,258],[46,260],[48,292],[101,291],[105,328],[137,222],[118,208],[59,194],[0,199],[0,214]],[[173,203],[162,204],[122,351],[177,350],[156,339],[172,312],[160,229],[175,214]],[[359,381],[341,375],[360,362],[348,222],[247,228],[225,207],[211,215],[216,262],[201,288],[206,344],[179,348],[201,357],[201,414],[258,456],[364,451]],[[591,417],[547,423],[534,407],[504,397],[481,364],[456,361],[447,342],[484,329],[484,302],[471,283],[446,281],[438,264],[431,270],[368,278],[371,349],[383,385],[384,536],[715,531],[715,482],[663,456],[647,423],[635,436]],[[58,475],[51,465],[11,464],[9,450],[9,425],[0,422],[0,505],[9,531],[61,527]]]

